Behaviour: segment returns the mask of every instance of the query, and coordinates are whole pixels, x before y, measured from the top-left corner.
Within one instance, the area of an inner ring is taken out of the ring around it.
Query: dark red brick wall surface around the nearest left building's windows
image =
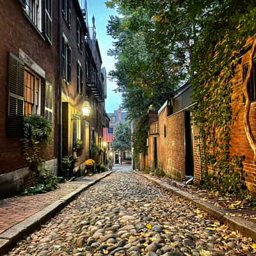
[[[45,79],[52,84],[54,95],[58,87],[58,1],[52,1],[52,45],[44,39],[28,20],[17,0],[0,0],[0,174],[9,173],[24,166],[20,138],[6,138],[6,113],[8,111],[8,54],[19,57],[19,49],[35,61],[44,71]],[[51,145],[45,159],[57,154],[57,101],[54,99],[54,125]]]

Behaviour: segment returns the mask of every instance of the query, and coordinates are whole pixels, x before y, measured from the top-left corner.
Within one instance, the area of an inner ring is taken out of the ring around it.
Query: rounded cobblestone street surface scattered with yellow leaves
[[[126,170],[84,191],[8,255],[255,255],[190,202]]]

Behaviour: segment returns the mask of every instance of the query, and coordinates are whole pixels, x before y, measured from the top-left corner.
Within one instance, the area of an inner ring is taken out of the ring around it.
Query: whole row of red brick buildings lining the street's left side
[[[23,116],[36,113],[52,124],[42,152],[45,168],[61,173],[63,156],[78,156],[75,171],[101,146],[106,70],[85,0],[0,1],[0,196],[17,193],[31,173],[22,152]],[[91,113],[83,116],[82,107]]]

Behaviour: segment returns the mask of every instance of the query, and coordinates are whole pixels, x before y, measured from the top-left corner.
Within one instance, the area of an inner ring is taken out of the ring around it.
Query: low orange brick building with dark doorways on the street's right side
[[[191,92],[191,84],[186,83],[158,112],[148,111],[148,155],[140,156],[142,170],[161,168],[177,180],[200,175],[196,131],[190,112]]]

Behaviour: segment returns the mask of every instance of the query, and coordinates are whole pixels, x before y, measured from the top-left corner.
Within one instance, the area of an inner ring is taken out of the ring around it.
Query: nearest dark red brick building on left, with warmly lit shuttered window
[[[52,123],[47,168],[57,169],[58,1],[0,1],[0,195],[19,191],[29,175],[20,135],[24,115]]]

